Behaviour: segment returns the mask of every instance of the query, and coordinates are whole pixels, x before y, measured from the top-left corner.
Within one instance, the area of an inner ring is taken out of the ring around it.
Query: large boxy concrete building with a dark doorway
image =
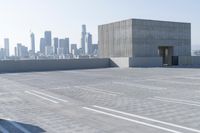
[[[100,25],[98,34],[99,56],[128,57],[130,66],[177,65],[191,56],[190,23],[129,19]]]

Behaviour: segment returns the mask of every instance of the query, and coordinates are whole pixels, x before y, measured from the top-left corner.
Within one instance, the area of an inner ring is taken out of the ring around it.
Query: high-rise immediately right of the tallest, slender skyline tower
[[[87,33],[85,37],[85,54],[92,54],[92,34]]]

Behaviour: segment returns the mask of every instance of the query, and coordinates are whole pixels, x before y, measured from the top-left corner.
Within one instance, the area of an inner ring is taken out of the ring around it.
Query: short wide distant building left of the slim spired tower
[[[28,48],[23,46],[21,43],[18,43],[17,47],[15,47],[15,56],[20,58],[27,58],[28,55]]]

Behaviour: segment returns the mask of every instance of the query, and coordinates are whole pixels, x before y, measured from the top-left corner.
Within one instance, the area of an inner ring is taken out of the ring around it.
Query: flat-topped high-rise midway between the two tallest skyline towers
[[[59,39],[59,48],[63,49],[63,54],[69,54],[69,38]]]

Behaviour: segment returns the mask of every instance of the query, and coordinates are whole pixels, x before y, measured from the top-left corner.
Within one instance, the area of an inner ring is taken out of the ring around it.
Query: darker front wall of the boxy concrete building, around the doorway
[[[174,56],[191,55],[191,24],[133,19],[133,57],[156,57],[159,46],[172,46]]]

